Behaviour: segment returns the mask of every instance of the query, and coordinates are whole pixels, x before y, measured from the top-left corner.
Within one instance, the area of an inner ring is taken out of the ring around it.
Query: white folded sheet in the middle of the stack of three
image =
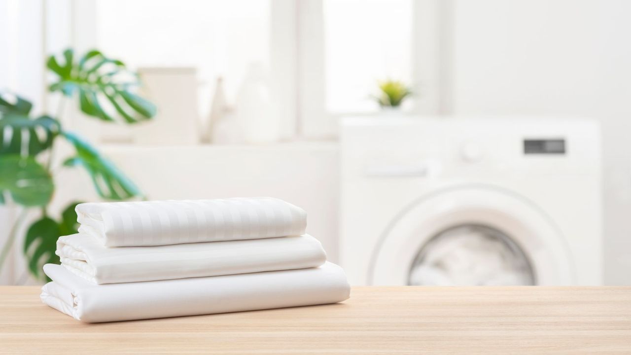
[[[326,253],[303,236],[108,248],[91,236],[57,239],[61,265],[96,284],[182,279],[319,267]]]

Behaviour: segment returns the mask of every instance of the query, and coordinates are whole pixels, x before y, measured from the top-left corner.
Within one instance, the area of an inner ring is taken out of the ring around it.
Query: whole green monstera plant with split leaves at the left
[[[74,212],[78,202],[64,208],[57,219],[49,213],[55,191],[52,171],[58,168],[52,166],[58,140],[74,148],[74,154],[62,160],[59,168],[83,167],[103,199],[126,200],[140,194],[136,185],[88,141],[62,126],[59,116],[66,101],[75,100],[81,112],[108,122],[137,123],[151,119],[156,112],[155,105],[134,93],[140,84],[138,75],[99,51],[76,56],[67,49],[61,57],[50,56],[46,66],[56,76],[49,91],[61,93],[58,116],[33,117],[31,102],[0,92],[0,204],[21,207],[0,250],[0,271],[28,210],[38,208],[41,217],[28,227],[23,246],[28,270],[38,279],[45,277],[44,263],[59,263],[57,238],[75,233],[78,227]]]

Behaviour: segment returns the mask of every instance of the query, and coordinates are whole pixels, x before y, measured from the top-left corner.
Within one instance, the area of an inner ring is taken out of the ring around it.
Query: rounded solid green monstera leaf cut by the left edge
[[[33,157],[0,155],[0,203],[4,194],[23,206],[44,206],[52,197],[54,185],[49,172]]]

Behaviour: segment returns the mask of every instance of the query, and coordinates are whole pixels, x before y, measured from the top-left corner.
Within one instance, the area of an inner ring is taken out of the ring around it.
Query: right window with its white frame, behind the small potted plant
[[[336,136],[339,119],[379,114],[377,81],[403,80],[404,111],[436,114],[445,76],[440,37],[449,35],[440,0],[298,1],[298,119],[310,138]]]

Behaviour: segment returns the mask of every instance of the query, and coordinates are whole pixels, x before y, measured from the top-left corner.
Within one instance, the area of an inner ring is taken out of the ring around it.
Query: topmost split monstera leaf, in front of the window
[[[140,85],[138,76],[121,61],[99,51],[89,51],[77,58],[72,49],[67,49],[61,61],[50,56],[47,66],[59,76],[49,90],[68,97],[78,95],[81,111],[89,116],[136,123],[156,114],[154,104],[132,91]]]

